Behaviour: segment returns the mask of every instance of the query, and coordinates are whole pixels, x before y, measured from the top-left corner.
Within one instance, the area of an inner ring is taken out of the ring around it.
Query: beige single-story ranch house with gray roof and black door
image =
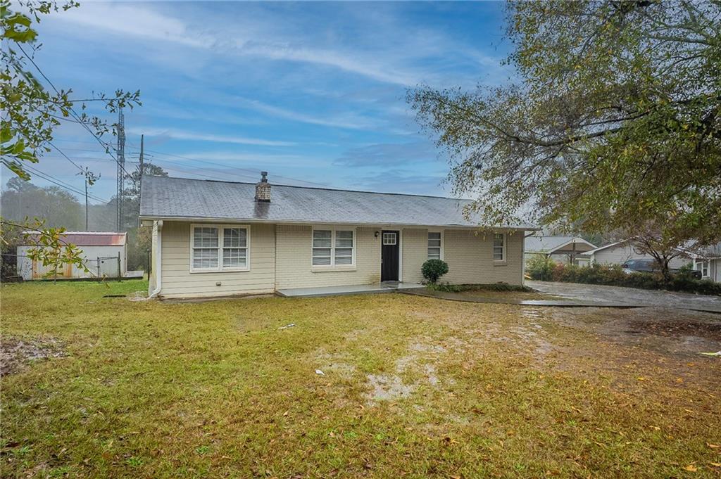
[[[151,295],[198,297],[420,282],[443,259],[451,283],[523,283],[523,225],[479,231],[468,200],[143,178],[153,228]]]

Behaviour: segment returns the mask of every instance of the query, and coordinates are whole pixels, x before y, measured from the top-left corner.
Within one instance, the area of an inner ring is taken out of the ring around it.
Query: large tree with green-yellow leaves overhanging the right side
[[[513,1],[516,81],[409,92],[487,223],[721,239],[721,1]]]

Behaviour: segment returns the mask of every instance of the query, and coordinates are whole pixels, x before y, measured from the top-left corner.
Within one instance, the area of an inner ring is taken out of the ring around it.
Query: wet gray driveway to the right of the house
[[[694,295],[687,292],[637,290],[630,287],[582,285],[548,281],[526,281],[526,286],[549,295],[599,304],[637,303],[645,306],[670,306],[721,313],[721,297]]]

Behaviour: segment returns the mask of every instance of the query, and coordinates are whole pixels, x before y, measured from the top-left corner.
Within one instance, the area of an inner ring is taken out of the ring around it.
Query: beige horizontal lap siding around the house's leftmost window
[[[165,222],[162,227],[164,297],[224,296],[275,290],[275,225],[250,227],[250,270],[190,272],[190,223]],[[216,282],[221,282],[220,286]]]

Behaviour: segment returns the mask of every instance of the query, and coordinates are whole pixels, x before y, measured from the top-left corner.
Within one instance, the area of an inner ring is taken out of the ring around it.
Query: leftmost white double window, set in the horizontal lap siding
[[[242,271],[249,269],[249,227],[192,225],[190,271]]]

